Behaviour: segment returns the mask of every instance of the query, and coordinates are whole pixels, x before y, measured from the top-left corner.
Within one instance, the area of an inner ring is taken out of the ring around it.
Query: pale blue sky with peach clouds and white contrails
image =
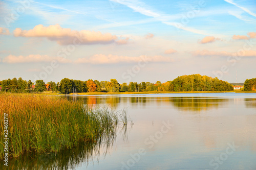
[[[256,77],[256,1],[0,1],[0,80]]]

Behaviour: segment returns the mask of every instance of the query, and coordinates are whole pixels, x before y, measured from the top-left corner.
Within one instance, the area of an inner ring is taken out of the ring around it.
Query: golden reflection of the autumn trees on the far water
[[[119,105],[124,105],[129,103],[134,107],[146,108],[153,104],[157,106],[163,105],[173,105],[180,111],[205,111],[208,109],[218,108],[228,102],[229,99],[223,98],[205,98],[205,97],[145,97],[145,96],[108,96],[106,98],[99,98],[98,96],[78,96],[78,97],[68,97],[69,100],[83,101],[84,104],[89,105],[106,105],[112,108],[116,108]]]

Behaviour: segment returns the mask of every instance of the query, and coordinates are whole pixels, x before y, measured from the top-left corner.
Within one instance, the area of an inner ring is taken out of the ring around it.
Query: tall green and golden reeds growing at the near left
[[[9,157],[29,151],[59,152],[79,141],[115,136],[119,121],[118,112],[106,107],[91,109],[54,96],[0,95],[0,159],[5,154],[4,113],[8,114]]]

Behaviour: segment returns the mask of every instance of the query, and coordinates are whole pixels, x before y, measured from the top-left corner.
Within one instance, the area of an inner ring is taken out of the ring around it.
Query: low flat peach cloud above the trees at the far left
[[[61,57],[49,57],[47,55],[28,55],[28,56],[14,56],[9,55],[3,59],[4,63],[38,63],[38,62],[52,62],[53,60],[59,63],[70,63],[71,61]]]

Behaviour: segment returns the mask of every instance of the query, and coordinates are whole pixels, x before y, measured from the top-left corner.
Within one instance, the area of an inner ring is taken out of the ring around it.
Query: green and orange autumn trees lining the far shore
[[[37,80],[26,81],[16,78],[0,81],[2,92],[43,92],[52,90],[64,94],[75,92],[141,92],[141,91],[230,91],[233,86],[228,82],[207,76],[180,76],[173,81],[161,83],[130,82],[119,84],[116,79],[101,81],[89,79],[87,81],[64,78],[60,82]],[[50,86],[49,86],[50,85]],[[33,87],[33,88],[32,88]]]

